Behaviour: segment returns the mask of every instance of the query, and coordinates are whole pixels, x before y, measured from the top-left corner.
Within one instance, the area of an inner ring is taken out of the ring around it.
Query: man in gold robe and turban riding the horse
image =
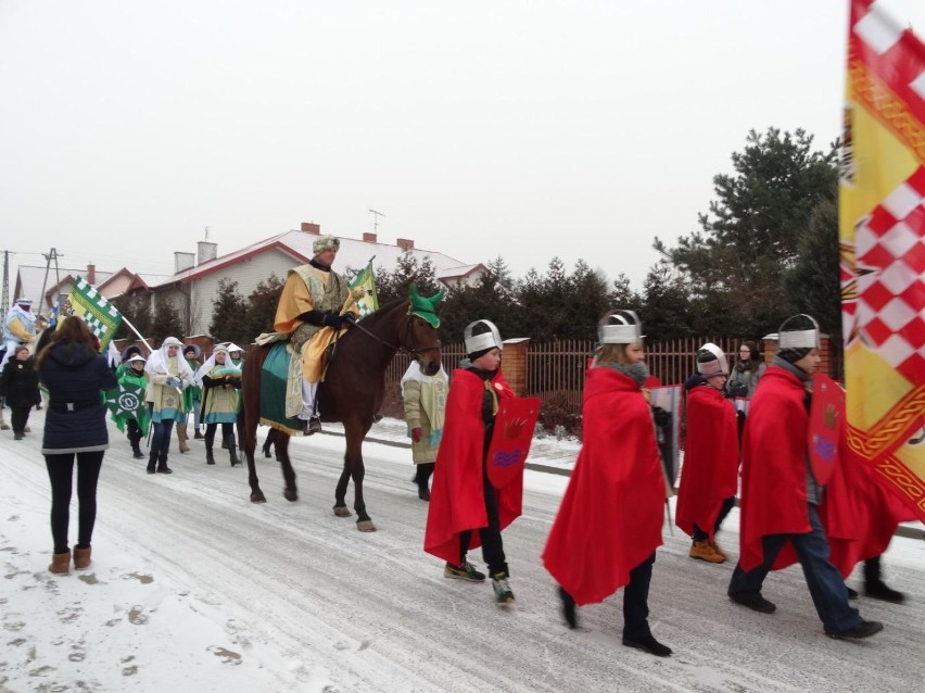
[[[333,236],[315,240],[315,256],[289,270],[274,320],[274,329],[289,336],[293,355],[302,356],[302,408],[295,416],[305,421],[306,434],[321,430],[316,394],[325,351],[358,315],[350,286],[331,269],[340,247]]]

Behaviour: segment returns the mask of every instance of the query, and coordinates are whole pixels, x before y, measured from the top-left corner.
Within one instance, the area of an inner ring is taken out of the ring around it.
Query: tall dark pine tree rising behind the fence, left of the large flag
[[[732,155],[734,175],[713,178],[717,199],[700,230],[654,247],[677,270],[695,304],[689,328],[764,333],[795,311],[784,276],[799,255],[812,210],[837,196],[838,143],[815,151],[812,136],[751,130]]]

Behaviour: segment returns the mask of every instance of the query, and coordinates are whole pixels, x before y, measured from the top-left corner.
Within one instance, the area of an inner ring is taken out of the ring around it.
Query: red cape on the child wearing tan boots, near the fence
[[[674,524],[688,536],[696,524],[710,534],[720,506],[738,490],[738,426],[735,406],[710,386],[687,393],[684,469]]]

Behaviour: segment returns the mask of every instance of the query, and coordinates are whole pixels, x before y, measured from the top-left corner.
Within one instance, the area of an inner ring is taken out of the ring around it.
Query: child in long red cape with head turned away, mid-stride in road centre
[[[601,602],[625,585],[623,644],[667,657],[671,648],[652,637],[648,622],[667,484],[643,390],[648,368],[638,316],[608,313],[598,341],[584,389],[581,452],[543,564],[560,585],[570,627],[576,626],[576,605]]]

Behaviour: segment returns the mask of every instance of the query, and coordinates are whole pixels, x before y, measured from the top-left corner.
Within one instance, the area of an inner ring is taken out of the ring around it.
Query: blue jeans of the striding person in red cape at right
[[[803,534],[768,534],[762,539],[764,562],[746,572],[736,565],[730,580],[728,595],[737,598],[751,598],[761,593],[761,585],[771,564],[777,557],[785,542],[790,542],[797,551],[807,585],[815,605],[816,614],[826,633],[835,633],[861,623],[858,609],[848,605],[848,589],[845,580],[832,562],[828,560],[828,540],[819,519],[814,505],[809,505],[811,530]]]

